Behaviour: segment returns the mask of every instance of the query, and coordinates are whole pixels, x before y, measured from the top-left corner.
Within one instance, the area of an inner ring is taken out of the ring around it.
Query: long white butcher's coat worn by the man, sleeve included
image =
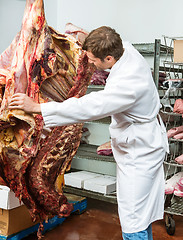
[[[112,67],[104,90],[63,103],[41,104],[45,125],[68,125],[111,116],[109,130],[117,163],[117,201],[122,231],[145,230],[163,218],[166,130],[160,101],[145,59],[130,44]]]

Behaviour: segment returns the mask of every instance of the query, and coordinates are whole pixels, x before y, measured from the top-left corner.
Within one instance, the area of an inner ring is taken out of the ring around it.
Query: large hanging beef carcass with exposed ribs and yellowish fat
[[[41,115],[10,111],[8,102],[17,92],[39,103],[81,97],[93,71],[73,36],[48,27],[43,0],[27,0],[22,29],[0,56],[0,176],[33,220],[71,213],[62,178],[80,144],[83,125],[44,129]]]

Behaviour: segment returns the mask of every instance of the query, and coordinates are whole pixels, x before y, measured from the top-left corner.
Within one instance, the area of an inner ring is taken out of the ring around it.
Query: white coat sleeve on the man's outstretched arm
[[[62,103],[41,104],[47,127],[64,126],[97,120],[129,109],[135,102],[135,91],[129,85],[110,85],[81,98],[69,98]]]

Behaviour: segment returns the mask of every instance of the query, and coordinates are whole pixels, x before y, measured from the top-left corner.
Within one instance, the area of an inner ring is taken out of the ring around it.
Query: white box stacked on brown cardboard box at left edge
[[[19,199],[15,197],[15,193],[9,187],[0,185],[0,208],[8,210],[21,205],[23,203],[20,203]]]

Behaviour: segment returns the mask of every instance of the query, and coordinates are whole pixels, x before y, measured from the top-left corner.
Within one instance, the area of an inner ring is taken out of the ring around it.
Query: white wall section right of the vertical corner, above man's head
[[[162,35],[183,36],[182,0],[60,0],[58,27],[67,22],[92,30],[115,28],[122,38],[154,42]]]

